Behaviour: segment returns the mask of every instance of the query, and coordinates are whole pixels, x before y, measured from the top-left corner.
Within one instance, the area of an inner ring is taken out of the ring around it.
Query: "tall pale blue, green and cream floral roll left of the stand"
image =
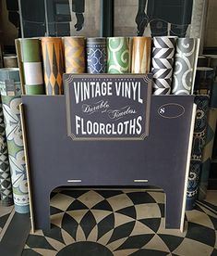
[[[2,69],[0,73],[3,73],[1,77],[5,79],[1,95],[15,211],[26,213],[29,212],[29,195],[18,108],[21,103],[19,73],[18,69]]]

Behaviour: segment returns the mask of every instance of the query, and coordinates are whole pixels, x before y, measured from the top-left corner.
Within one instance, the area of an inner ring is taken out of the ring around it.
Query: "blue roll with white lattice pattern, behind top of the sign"
[[[87,71],[105,73],[107,66],[106,39],[104,37],[87,38]]]

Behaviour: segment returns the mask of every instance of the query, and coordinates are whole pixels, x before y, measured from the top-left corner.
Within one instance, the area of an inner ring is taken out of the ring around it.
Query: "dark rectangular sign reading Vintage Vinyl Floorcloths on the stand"
[[[143,140],[149,134],[151,74],[65,74],[67,135]]]

